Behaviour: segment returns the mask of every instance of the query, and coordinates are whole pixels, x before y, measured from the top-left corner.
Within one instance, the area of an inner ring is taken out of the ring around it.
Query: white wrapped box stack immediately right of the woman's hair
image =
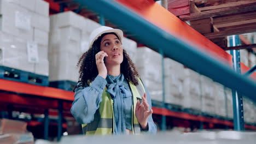
[[[148,47],[138,47],[135,64],[152,100],[162,101],[161,55]]]

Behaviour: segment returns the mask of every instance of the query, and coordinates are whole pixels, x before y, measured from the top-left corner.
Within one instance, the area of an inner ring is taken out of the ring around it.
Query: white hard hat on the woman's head
[[[118,35],[120,41],[122,41],[122,39],[124,37],[123,31],[121,31],[120,29],[114,29],[112,27],[101,26],[91,32],[91,35],[89,37],[89,49],[91,48],[92,44],[94,44],[94,41],[97,40],[98,37],[100,37],[104,33],[115,33]]]

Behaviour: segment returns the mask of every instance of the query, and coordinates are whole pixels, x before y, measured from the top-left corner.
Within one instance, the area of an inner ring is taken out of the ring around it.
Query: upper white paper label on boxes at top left
[[[31,28],[31,16],[21,13],[20,11],[15,11],[15,26],[30,31]]]

